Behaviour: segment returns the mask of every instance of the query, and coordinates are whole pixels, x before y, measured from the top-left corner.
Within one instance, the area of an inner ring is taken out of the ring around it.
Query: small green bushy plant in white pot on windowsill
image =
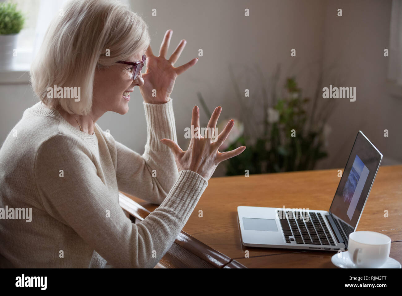
[[[17,10],[17,4],[0,3],[0,70],[12,70],[18,33],[23,28],[25,17]]]

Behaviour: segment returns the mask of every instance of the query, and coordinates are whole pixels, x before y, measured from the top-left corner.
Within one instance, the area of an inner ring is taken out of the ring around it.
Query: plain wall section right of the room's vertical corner
[[[330,156],[323,168],[344,167],[357,131],[361,130],[384,155],[382,165],[401,164],[402,93],[393,97],[386,87],[392,1],[327,0],[324,8],[324,64],[339,56],[344,87],[356,87],[356,101],[338,99],[329,124]],[[337,17],[342,8],[343,16]],[[329,86],[327,81],[326,86]],[[384,137],[384,130],[389,137]]]

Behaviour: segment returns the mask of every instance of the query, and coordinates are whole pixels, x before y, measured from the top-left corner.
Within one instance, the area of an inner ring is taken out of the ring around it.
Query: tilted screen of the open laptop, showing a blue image
[[[359,131],[329,212],[349,235],[359,222],[382,154]]]

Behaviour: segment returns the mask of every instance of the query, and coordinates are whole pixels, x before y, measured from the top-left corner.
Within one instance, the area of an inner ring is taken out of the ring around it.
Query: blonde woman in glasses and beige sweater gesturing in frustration
[[[73,0],[63,11],[31,68],[41,101],[25,110],[0,150],[0,201],[9,211],[0,220],[0,265],[154,267],[216,166],[245,147],[217,151],[233,120],[217,141],[196,136],[187,151],[176,144],[170,93],[176,77],[197,62],[173,66],[185,40],[166,60],[172,31],[154,56],[147,25],[120,2]],[[107,111],[126,114],[136,85],[148,126],[143,155],[96,124]],[[207,127],[216,126],[220,111]],[[197,106],[191,124],[199,128]],[[118,190],[160,207],[133,224],[119,206]],[[22,209],[31,211],[31,221],[21,219]]]

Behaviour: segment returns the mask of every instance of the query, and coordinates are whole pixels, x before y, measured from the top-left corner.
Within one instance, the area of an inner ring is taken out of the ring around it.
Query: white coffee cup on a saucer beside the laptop
[[[378,268],[390,256],[391,238],[373,231],[349,234],[349,257],[358,268]]]

